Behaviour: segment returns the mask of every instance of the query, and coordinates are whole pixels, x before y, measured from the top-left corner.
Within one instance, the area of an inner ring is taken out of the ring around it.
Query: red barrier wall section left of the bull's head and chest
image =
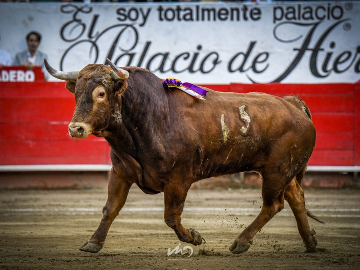
[[[0,86],[0,164],[110,164],[105,139],[67,135],[75,99],[64,82]]]

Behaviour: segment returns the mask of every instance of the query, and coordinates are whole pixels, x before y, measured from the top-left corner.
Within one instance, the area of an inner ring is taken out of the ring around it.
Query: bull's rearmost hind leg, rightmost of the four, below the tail
[[[318,242],[315,237],[315,231],[310,230],[305,208],[304,192],[296,178],[293,178],[290,184],[287,185],[284,198],[289,203],[291,210],[293,210],[306,252],[315,252]]]

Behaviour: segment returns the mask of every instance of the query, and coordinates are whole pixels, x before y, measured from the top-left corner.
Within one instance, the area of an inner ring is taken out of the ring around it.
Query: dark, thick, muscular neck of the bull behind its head
[[[115,141],[123,144],[123,149],[134,149],[132,156],[135,157],[142,146],[148,151],[157,151],[157,138],[160,132],[167,130],[170,111],[167,92],[159,78],[146,70],[129,71],[128,88],[121,99],[122,120],[116,125]],[[111,139],[108,141],[111,145]]]

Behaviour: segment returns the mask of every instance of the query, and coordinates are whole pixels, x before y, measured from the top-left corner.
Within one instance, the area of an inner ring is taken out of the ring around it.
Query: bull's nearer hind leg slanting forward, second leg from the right
[[[273,216],[284,208],[284,190],[290,180],[285,175],[262,173],[262,207],[255,220],[241,233],[230,247],[233,254],[247,251],[252,238]]]

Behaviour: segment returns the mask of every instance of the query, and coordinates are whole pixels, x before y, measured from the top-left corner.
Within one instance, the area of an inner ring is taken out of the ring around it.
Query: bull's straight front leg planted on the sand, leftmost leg
[[[81,251],[97,253],[103,248],[109,228],[119,211],[123,208],[131,184],[119,177],[113,168],[111,169],[108,199],[103,208],[103,218],[95,233],[80,248]]]

